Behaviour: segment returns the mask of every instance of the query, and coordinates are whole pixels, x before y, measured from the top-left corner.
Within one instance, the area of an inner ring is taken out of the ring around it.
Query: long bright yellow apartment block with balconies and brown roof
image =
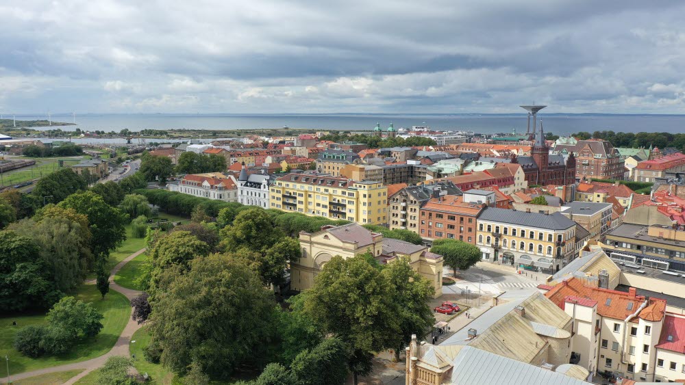
[[[380,182],[292,173],[271,186],[271,209],[348,220],[386,224],[388,188]]]

